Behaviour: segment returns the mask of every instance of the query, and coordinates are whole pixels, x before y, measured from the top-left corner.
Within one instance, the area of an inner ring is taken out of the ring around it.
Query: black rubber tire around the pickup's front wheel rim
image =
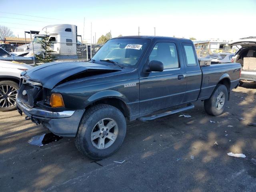
[[[106,118],[111,118],[118,125],[118,134],[114,142],[105,149],[96,148],[91,141],[91,134],[96,124]],[[126,135],[126,120],[120,110],[107,104],[98,104],[89,108],[83,115],[75,138],[76,148],[88,158],[102,159],[118,150]]]

